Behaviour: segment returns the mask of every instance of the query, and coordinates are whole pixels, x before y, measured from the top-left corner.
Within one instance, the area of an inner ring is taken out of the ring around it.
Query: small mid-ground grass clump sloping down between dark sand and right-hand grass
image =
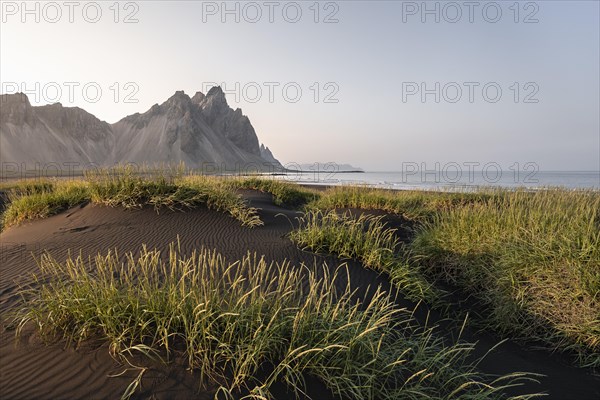
[[[434,303],[438,291],[400,254],[396,230],[386,227],[382,218],[367,214],[356,218],[349,212],[340,215],[335,211],[308,211],[298,218],[299,226],[290,237],[315,252],[358,259],[366,267],[388,274],[408,298]]]

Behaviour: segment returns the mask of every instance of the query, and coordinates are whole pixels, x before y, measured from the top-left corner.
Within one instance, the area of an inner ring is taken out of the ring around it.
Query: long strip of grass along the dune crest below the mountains
[[[45,218],[77,204],[92,202],[110,207],[152,206],[171,210],[207,207],[229,213],[243,225],[262,225],[257,210],[224,180],[184,176],[181,169],[116,167],[87,171],[83,179],[23,181],[7,184],[9,203],[4,227]]]

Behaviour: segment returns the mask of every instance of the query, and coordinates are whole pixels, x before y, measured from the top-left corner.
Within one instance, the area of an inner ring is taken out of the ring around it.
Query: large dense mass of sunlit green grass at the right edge
[[[498,192],[438,213],[410,247],[486,306],[487,326],[600,367],[600,193]]]

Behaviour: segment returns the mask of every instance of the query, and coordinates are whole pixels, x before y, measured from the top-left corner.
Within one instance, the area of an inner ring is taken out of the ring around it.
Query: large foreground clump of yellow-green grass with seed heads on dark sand
[[[339,269],[317,274],[251,254],[229,263],[204,249],[186,257],[175,245],[167,260],[144,247],[93,264],[45,254],[40,268],[22,291],[17,335],[33,323],[47,340],[107,341],[124,360],[183,356],[201,388],[217,383],[222,393],[271,399],[283,381],[300,396],[312,375],[347,399],[487,399],[529,379],[479,375],[466,361],[470,345],[444,345],[382,292],[361,303],[349,285],[336,290]],[[259,380],[265,363],[273,371]]]

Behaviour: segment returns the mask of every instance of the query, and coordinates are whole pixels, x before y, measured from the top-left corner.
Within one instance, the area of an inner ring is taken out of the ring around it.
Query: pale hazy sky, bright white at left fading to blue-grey
[[[214,82],[284,164],[600,169],[598,1],[1,3],[34,104],[115,122]]]

